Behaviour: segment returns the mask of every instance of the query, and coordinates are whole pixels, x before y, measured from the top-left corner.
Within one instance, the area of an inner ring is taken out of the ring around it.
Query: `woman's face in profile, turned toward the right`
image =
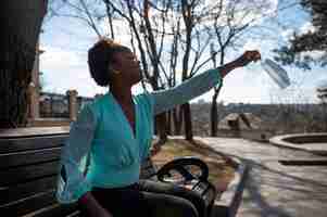
[[[135,85],[142,78],[140,62],[131,51],[121,51],[114,54],[114,69],[121,72],[122,80],[126,85]]]

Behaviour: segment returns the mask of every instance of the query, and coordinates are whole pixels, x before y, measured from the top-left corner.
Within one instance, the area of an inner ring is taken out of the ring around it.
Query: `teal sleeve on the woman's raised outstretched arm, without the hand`
[[[155,115],[172,110],[176,105],[184,104],[222,82],[218,69],[209,69],[174,88],[154,91],[151,93],[154,101],[153,113]]]

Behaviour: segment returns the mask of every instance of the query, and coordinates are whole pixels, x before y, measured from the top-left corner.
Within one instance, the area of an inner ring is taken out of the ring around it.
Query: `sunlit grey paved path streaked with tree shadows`
[[[238,217],[327,217],[327,166],[278,163],[281,158],[316,156],[243,139],[197,139],[250,165]]]

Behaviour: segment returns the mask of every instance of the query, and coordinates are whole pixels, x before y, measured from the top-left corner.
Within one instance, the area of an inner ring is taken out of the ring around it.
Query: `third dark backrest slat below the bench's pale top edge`
[[[0,187],[17,184],[32,179],[53,176],[59,171],[59,161],[41,163],[30,166],[22,166],[0,171]]]

